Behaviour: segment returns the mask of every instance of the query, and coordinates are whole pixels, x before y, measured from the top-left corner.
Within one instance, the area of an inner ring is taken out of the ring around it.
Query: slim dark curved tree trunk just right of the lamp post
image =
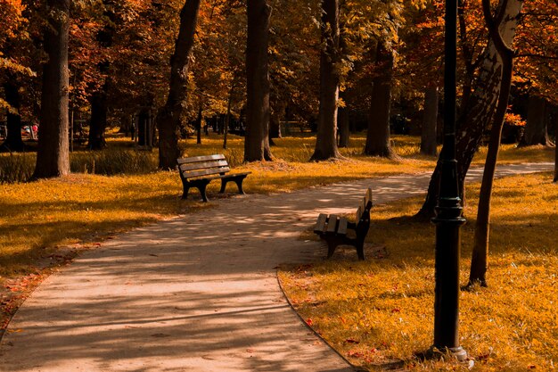
[[[502,82],[494,122],[490,131],[488,143],[487,160],[482,175],[482,184],[479,194],[479,208],[477,211],[477,222],[475,224],[474,245],[472,248],[471,271],[469,275],[469,286],[480,283],[487,286],[486,273],[488,270],[488,243],[490,234],[490,203],[492,197],[492,186],[496,172],[496,161],[502,139],[502,128],[504,128],[505,112],[509,103],[512,90],[513,78],[513,50],[510,49],[502,39],[498,31],[499,22],[492,18],[489,0],[482,0],[485,18],[491,39],[496,45],[498,55],[502,59]],[[503,12],[503,11],[499,11]],[[496,16],[500,19],[500,16]]]

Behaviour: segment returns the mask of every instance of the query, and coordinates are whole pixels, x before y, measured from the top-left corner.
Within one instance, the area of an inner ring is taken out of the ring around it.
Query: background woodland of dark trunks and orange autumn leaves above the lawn
[[[458,20],[462,181],[472,154],[488,142],[502,79],[480,3],[461,2]],[[558,120],[557,5],[489,5],[500,9],[502,43],[513,47],[515,62],[504,140],[553,145],[547,128]],[[394,130],[422,133],[423,152],[434,153],[432,125],[436,107],[443,108],[433,95],[443,68],[439,0],[18,0],[0,3],[0,15],[8,26],[0,32],[2,148],[23,150],[21,124],[40,124],[36,177],[68,172],[62,148],[71,118],[85,121],[94,150],[106,145],[106,128],[135,125],[136,136],[146,137],[142,145],[158,144],[161,169],[175,166],[178,138],[193,133],[199,112],[218,121],[219,133],[225,122],[240,122],[246,161],[272,160],[269,144],[290,122],[316,130],[313,160],[339,157],[338,141],[346,144],[349,130],[367,130],[365,154],[393,157]],[[64,84],[68,108],[49,91],[65,92]],[[156,123],[154,135],[145,122]],[[58,142],[60,150],[45,150]]]

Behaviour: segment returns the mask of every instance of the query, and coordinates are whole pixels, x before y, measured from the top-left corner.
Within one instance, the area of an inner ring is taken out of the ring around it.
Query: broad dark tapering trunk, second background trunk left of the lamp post
[[[368,113],[365,155],[395,158],[390,145],[391,84],[393,82],[393,54],[378,44],[376,65],[378,70],[373,79],[372,99]]]

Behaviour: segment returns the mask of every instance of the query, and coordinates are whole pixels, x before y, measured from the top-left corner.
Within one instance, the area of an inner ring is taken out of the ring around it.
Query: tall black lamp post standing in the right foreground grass
[[[444,81],[444,146],[436,217],[436,291],[434,301],[434,344],[431,351],[449,352],[465,360],[459,345],[459,258],[460,229],[465,223],[459,198],[455,160],[457,0],[446,0],[446,71]]]

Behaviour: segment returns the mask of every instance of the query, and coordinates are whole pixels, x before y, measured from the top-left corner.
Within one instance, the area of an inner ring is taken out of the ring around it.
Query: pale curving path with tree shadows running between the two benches
[[[298,240],[318,212],[354,211],[366,187],[375,203],[423,194],[429,178],[234,197],[103,243],[23,304],[0,371],[352,371],[291,310],[275,268],[324,256],[321,244]]]

